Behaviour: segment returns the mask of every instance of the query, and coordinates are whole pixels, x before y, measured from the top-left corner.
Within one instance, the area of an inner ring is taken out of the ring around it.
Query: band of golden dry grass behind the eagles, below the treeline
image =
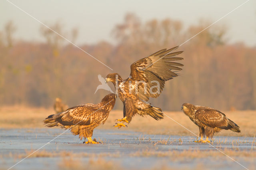
[[[48,115],[53,114],[53,109],[28,108],[28,107],[2,107],[0,108],[0,128],[42,128],[42,121]],[[195,134],[198,134],[198,127],[182,112],[164,112],[166,115],[188,128]],[[235,133],[230,130],[222,130],[216,135],[220,136],[256,136],[256,111],[227,111],[226,116],[240,126],[241,133]],[[100,129],[114,129],[113,125],[116,119],[122,118],[122,111],[112,111],[108,120]],[[118,129],[116,129],[118,130]],[[164,120],[155,121],[151,117],[133,117],[128,128],[121,130],[134,130],[147,134],[167,134],[167,135],[193,135],[185,128],[178,125],[173,120],[165,116]],[[120,131],[120,129],[119,129]]]

